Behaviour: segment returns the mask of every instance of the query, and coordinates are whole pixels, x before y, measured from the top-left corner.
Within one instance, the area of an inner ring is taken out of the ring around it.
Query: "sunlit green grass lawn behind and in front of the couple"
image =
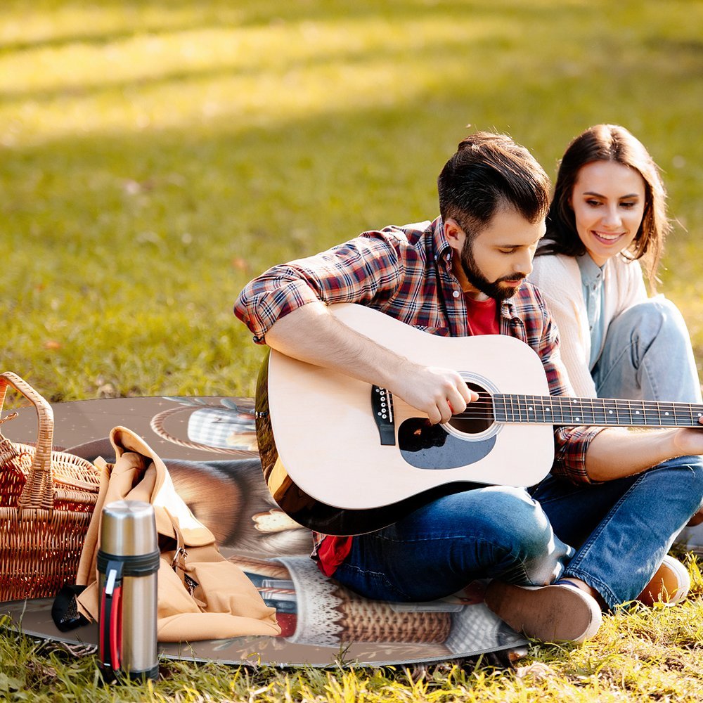
[[[664,170],[678,224],[661,288],[703,360],[701,26],[700,0],[4,0],[1,365],[52,401],[252,394],[262,352],[231,314],[249,278],[434,217],[467,124],[554,173],[596,122],[625,124]],[[149,695],[699,700],[697,584],[584,647],[534,645],[516,671],[165,664]],[[118,696],[91,659],[0,645],[0,697]]]

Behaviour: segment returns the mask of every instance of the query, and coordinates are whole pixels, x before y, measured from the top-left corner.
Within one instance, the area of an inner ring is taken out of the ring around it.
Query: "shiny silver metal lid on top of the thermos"
[[[158,549],[154,508],[144,501],[114,501],[103,508],[100,550],[117,556],[150,554]]]

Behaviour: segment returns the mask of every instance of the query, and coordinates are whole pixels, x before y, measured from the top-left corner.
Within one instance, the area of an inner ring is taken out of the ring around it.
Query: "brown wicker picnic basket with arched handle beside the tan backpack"
[[[0,411],[8,386],[34,404],[39,437],[30,446],[0,433],[0,601],[45,598],[75,580],[99,475],[89,461],[52,451],[51,406],[11,371],[0,374]]]

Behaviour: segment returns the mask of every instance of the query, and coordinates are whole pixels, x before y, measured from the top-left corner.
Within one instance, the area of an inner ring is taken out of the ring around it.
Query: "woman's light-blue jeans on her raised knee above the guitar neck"
[[[701,402],[688,329],[664,297],[633,305],[610,323],[591,375],[599,398]]]

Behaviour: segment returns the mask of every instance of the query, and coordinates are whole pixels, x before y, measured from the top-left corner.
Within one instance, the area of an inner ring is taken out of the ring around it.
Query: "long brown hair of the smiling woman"
[[[633,242],[621,254],[630,260],[642,259],[650,287],[654,288],[664,240],[671,229],[666,217],[666,190],[659,167],[650,153],[627,129],[617,124],[596,124],[569,144],[559,166],[544,244],[537,255],[567,254],[575,257],[586,252],[576,231],[571,199],[579,171],[595,161],[612,161],[635,169],[645,181],[642,222]]]

